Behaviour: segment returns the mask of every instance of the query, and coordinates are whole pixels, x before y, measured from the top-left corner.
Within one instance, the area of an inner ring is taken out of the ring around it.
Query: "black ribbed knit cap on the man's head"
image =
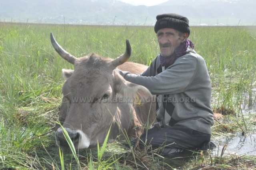
[[[162,28],[172,28],[190,34],[188,18],[179,14],[161,14],[156,16],[155,32]]]

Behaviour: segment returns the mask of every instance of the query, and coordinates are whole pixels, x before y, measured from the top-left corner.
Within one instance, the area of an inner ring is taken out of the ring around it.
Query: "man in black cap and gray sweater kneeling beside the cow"
[[[188,40],[188,18],[161,14],[156,19],[154,30],[160,54],[141,75],[119,72],[157,96],[158,123],[141,136],[139,146],[147,142],[153,149],[162,147],[163,156],[170,156],[210,142],[214,124],[211,83],[204,59]]]

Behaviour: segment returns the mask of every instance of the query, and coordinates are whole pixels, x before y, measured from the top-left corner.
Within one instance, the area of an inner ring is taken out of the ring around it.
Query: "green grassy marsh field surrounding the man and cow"
[[[126,39],[132,45],[131,61],[148,65],[159,52],[153,27],[0,22],[0,169],[256,168],[255,154],[224,154],[228,145],[218,148],[218,154],[186,160],[127,150],[120,142],[78,153],[60,150],[52,130],[62,100],[61,69],[72,65],[56,54],[50,32],[76,57],[96,53],[116,58]],[[225,115],[212,127],[212,138],[255,135],[256,27],[192,27],[189,38],[208,66],[212,109]]]

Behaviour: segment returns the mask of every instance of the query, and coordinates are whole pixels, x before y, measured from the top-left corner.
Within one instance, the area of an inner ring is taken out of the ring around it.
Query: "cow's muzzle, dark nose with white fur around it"
[[[90,146],[90,140],[81,130],[72,130],[70,128],[64,128],[68,133],[68,136],[72,140],[76,149],[88,148]],[[55,134],[56,143],[60,147],[68,148],[69,144],[64,136],[62,128],[58,128]]]

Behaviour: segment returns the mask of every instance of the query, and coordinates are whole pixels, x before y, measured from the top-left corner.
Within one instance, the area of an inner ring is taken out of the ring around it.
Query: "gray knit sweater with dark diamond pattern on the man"
[[[188,52],[168,68],[160,65],[158,56],[141,75],[125,71],[120,74],[156,94],[156,114],[161,128],[178,124],[211,134],[214,119],[210,76],[204,59],[196,52]]]

